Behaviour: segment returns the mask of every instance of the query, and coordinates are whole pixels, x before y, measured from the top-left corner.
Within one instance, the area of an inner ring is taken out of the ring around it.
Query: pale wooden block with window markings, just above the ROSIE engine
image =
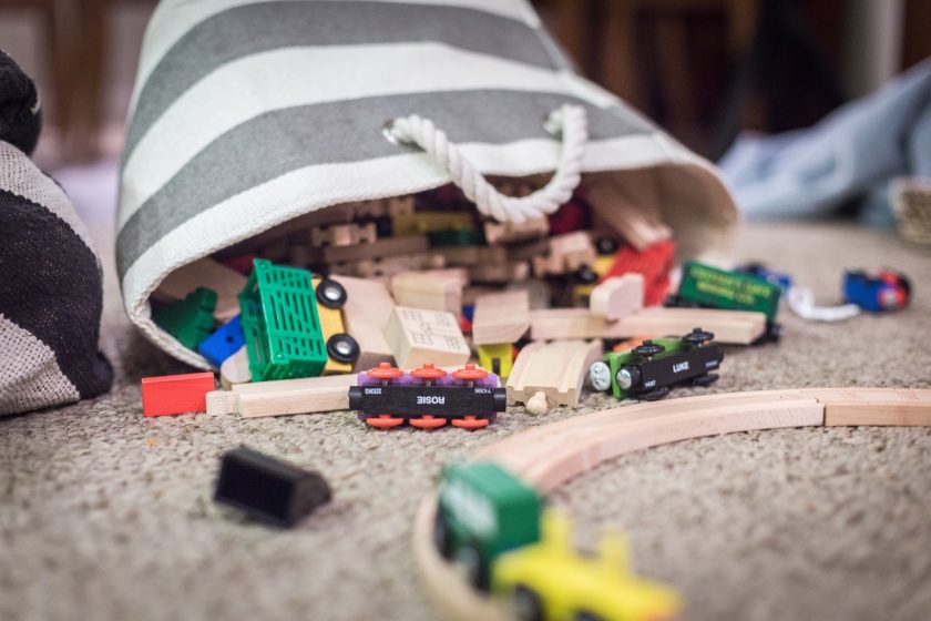
[[[438,367],[463,365],[470,356],[459,320],[452,313],[396,306],[385,337],[402,369],[424,363]]]

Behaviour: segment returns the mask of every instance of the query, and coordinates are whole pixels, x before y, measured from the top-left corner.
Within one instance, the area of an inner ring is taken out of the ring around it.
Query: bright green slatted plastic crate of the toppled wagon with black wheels
[[[316,377],[327,349],[311,274],[256,258],[239,294],[253,381]]]

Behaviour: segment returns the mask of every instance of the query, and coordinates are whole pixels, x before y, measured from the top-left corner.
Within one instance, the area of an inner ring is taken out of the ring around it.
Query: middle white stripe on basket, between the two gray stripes
[[[413,63],[417,71],[398,71]],[[313,81],[308,67],[314,68]],[[458,69],[450,71],[451,67]],[[293,48],[227,63],[175,100],[130,155],[123,169],[117,230],[202,149],[265,112],[478,89],[562,93],[566,82],[559,73],[438,43]],[[616,101],[597,101],[605,103]]]

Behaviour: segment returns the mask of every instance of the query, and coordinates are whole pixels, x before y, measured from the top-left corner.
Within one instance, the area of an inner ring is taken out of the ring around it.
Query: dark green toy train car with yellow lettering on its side
[[[718,269],[689,261],[683,266],[678,296],[714,308],[728,310],[757,310],[770,324],[779,310],[782,287],[764,278]]]

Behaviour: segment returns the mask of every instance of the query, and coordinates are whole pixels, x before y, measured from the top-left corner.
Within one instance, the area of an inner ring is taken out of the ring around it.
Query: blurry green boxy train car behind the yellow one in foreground
[[[492,561],[540,540],[543,499],[492,462],[448,466],[437,505],[440,553],[464,567],[471,583],[488,589]]]

